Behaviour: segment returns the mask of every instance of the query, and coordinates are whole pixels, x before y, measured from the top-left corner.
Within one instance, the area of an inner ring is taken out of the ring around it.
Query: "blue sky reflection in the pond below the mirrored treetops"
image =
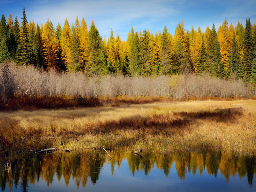
[[[143,160],[139,161],[141,163]],[[241,179],[237,173],[234,178],[232,175],[229,175],[230,177],[227,183],[226,178],[220,173],[220,170],[218,170],[217,177],[215,177],[214,174],[208,174],[205,166],[201,175],[198,167],[195,174],[192,171],[189,173],[188,167],[186,167],[185,180],[181,180],[177,175],[175,162],[172,163],[169,169],[168,177],[164,174],[163,169],[157,169],[156,164],[147,175],[145,175],[142,169],[141,171],[135,170],[133,176],[129,169],[127,158],[122,160],[119,168],[117,163],[114,165],[113,175],[111,164],[104,167],[105,163],[100,168],[100,174],[96,184],[93,185],[91,178],[88,177],[85,188],[80,184],[77,190],[76,178],[73,178],[72,175],[67,186],[63,175],[59,181],[55,172],[49,188],[47,182],[40,176],[39,182],[37,183],[36,181],[34,186],[28,182],[27,191],[255,191],[256,186],[254,179],[252,181],[252,187],[249,187],[247,174]],[[253,169],[255,172],[255,165]],[[4,191],[9,191],[8,185],[6,185]],[[22,191],[21,183],[17,186],[17,190],[13,184],[12,191]]]

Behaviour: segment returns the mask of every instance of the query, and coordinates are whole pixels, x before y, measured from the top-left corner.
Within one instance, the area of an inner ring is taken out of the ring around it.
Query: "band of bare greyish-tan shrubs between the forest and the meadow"
[[[101,76],[87,77],[84,73],[58,73],[35,67],[16,68],[12,62],[0,67],[2,100],[12,94],[31,96],[77,97],[97,96],[162,96],[185,97],[250,97],[250,85],[242,80],[219,80],[209,75],[195,74],[152,77]]]

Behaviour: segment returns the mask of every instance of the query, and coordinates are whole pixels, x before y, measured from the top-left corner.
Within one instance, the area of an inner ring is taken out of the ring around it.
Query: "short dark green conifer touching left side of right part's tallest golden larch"
[[[215,53],[214,53],[214,71],[215,76],[218,78],[223,78],[224,65],[221,63],[220,54],[220,43],[217,42]]]

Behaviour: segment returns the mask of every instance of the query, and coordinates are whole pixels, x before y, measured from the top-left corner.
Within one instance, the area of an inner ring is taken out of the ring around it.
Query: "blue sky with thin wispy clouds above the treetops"
[[[71,26],[76,16],[79,21],[84,17],[88,28],[94,20],[100,35],[106,36],[106,39],[111,28],[115,36],[119,32],[122,40],[126,40],[132,27],[137,31],[149,29],[155,34],[159,29],[163,31],[166,25],[174,35],[180,20],[184,21],[186,29],[194,26],[197,30],[200,26],[202,31],[207,26],[212,28],[213,23],[218,29],[225,17],[228,24],[232,22],[234,27],[238,20],[245,25],[247,17],[251,18],[252,24],[256,23],[255,0],[0,0],[0,14],[7,19],[11,13],[13,19],[17,16],[21,23],[23,5],[28,22],[34,19],[41,25],[49,18],[54,27],[58,22],[63,27],[66,18]]]

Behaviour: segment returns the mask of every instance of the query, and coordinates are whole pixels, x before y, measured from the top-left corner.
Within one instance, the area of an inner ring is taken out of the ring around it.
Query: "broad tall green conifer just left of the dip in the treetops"
[[[89,76],[106,74],[107,66],[103,52],[103,41],[93,21],[88,33],[88,37],[89,42],[87,49],[89,60],[85,66],[85,71]]]

